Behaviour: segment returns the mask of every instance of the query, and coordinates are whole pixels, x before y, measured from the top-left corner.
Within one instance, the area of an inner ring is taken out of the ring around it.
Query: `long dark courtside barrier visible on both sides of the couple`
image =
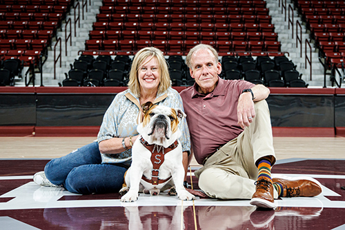
[[[1,93],[0,125],[99,126],[117,94],[43,90],[46,92]],[[274,93],[267,102],[273,127],[345,127],[345,94]]]

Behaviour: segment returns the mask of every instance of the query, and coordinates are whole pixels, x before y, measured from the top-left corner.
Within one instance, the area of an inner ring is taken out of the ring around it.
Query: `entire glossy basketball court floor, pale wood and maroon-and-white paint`
[[[0,229],[345,229],[345,138],[274,138],[273,176],[311,176],[323,186],[314,198],[279,198],[275,210],[256,209],[249,200],[181,201],[166,193],[123,203],[119,194],[81,196],[32,181],[49,159],[92,140],[2,137]],[[194,189],[199,167],[193,160],[188,173]]]

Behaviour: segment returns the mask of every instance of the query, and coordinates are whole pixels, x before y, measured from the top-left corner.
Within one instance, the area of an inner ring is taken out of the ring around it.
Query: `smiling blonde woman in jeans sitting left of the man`
[[[131,163],[137,125],[143,118],[141,105],[148,101],[184,109],[179,93],[171,87],[164,55],[157,48],[144,48],[135,55],[128,90],[117,94],[108,107],[97,142],[50,160],[44,171],[34,175],[34,182],[41,186],[63,186],[77,194],[118,192]],[[184,159],[188,159],[186,120],[179,123],[179,128]]]

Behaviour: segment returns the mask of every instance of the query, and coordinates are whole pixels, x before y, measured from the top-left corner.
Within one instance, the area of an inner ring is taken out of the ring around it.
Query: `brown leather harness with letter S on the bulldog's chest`
[[[159,167],[161,167],[161,165],[164,163],[164,155],[179,145],[177,140],[175,140],[175,142],[167,148],[164,148],[162,145],[149,145],[148,142],[142,137],[140,138],[140,142],[151,152],[151,163],[153,166],[151,169],[151,180],[146,178],[144,175],[141,177],[141,179],[151,183],[152,185],[159,185],[170,180],[171,176],[164,180],[159,179]]]

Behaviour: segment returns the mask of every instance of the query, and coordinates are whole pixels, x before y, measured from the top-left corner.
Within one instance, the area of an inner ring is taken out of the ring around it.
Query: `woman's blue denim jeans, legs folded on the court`
[[[102,164],[98,143],[85,145],[61,158],[50,160],[44,168],[55,185],[76,194],[118,192],[124,183],[126,167]]]

